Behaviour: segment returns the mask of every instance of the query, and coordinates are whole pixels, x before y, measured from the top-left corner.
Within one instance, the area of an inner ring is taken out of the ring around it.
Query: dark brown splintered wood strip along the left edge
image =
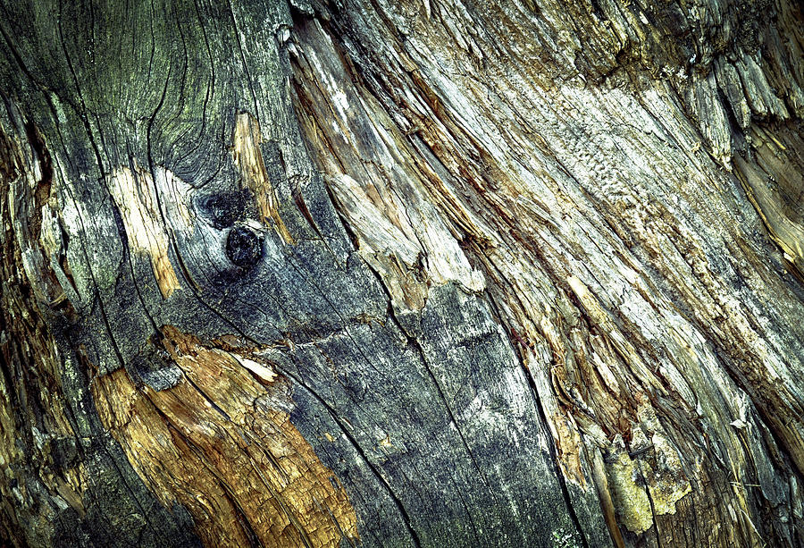
[[[63,386],[73,373],[71,364],[64,367],[63,353],[39,314],[39,307],[48,305],[74,314],[71,303],[58,298],[64,295],[60,282],[70,282],[58,278],[47,260],[61,235],[50,232],[48,218],[39,217],[50,213],[51,175],[42,150],[24,148],[0,125],[0,469],[5,479],[0,512],[11,523],[36,514],[46,527],[58,522],[63,510],[87,516],[92,480],[92,470],[78,458],[80,428]],[[16,516],[8,512],[12,504]],[[0,524],[0,536],[7,524]]]

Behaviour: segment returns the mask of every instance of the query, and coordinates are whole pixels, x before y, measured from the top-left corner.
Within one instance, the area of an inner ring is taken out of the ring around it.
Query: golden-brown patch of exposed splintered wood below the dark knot
[[[124,369],[92,385],[105,427],[156,496],[185,506],[209,546],[356,543],[347,494],[291,424],[271,365],[170,326],[163,334],[183,374],[175,387],[138,389]]]

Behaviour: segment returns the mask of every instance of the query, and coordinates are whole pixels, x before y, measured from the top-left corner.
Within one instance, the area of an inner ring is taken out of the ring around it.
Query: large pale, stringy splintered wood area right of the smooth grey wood
[[[688,531],[705,544],[766,542],[777,531],[760,533],[759,516],[786,523],[790,502],[768,470],[786,493],[804,470],[802,309],[775,266],[801,265],[804,146],[791,124],[758,129],[804,113],[801,82],[777,63],[800,56],[779,40],[800,35],[797,16],[762,27],[767,60],[750,36],[733,57],[716,54],[730,43],[711,22],[723,3],[699,18],[670,4],[448,4],[439,21],[421,3],[383,4],[377,19],[345,9],[300,25],[290,48],[303,131],[358,250],[398,309],[426,302],[421,288],[410,299],[410,272],[473,289],[431,260],[456,244],[450,263],[482,272],[569,497],[576,509],[603,502],[617,545],[616,523],[647,543]],[[718,37],[699,45],[715,68],[690,72],[699,57],[666,37],[700,29]],[[750,128],[748,153],[730,114]],[[763,247],[732,170],[783,253]],[[751,426],[733,426],[737,416]],[[760,479],[751,490],[735,476]],[[699,526],[721,522],[735,527]]]

